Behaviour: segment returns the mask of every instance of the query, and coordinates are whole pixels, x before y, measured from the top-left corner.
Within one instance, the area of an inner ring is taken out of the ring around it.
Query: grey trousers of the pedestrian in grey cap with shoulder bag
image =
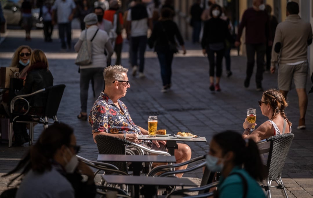
[[[87,112],[88,88],[91,78],[94,79],[95,96],[98,97],[103,90],[103,67],[80,69],[80,108]]]

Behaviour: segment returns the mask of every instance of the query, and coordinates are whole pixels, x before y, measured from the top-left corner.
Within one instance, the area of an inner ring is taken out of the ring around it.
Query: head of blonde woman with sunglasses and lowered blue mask
[[[32,49],[29,46],[22,45],[18,47],[13,54],[10,67],[17,67],[19,68],[19,72],[22,73],[23,69],[29,65],[29,58],[31,54]]]

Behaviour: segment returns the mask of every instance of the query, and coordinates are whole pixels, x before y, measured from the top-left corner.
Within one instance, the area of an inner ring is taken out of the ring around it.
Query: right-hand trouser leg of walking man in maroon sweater
[[[266,52],[265,44],[259,44],[256,46],[256,74],[255,82],[257,91],[263,91],[262,80],[264,72],[264,55]]]

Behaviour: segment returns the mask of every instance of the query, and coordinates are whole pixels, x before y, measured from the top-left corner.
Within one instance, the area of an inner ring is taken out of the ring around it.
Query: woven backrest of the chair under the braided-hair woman
[[[271,136],[266,141],[270,142],[267,167],[269,168],[269,180],[276,181],[281,175],[289,148],[294,138],[293,133]]]

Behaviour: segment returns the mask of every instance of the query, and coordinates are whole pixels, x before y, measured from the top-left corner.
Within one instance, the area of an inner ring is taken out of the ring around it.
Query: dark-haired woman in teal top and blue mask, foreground
[[[257,183],[265,178],[264,167],[253,140],[244,140],[235,131],[218,133],[212,138],[206,161],[209,170],[221,172],[218,197],[265,198]]]

